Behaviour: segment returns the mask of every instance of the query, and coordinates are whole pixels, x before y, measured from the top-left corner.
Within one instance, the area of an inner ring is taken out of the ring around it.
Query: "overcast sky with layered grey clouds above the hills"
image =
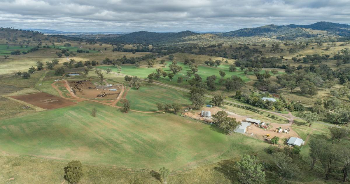
[[[350,0],[0,0],[0,27],[84,32],[231,31],[350,22]]]

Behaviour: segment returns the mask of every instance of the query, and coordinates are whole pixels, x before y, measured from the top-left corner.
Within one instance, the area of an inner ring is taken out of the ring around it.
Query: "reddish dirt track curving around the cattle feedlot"
[[[67,97],[63,96],[62,91],[59,90],[58,87],[55,85],[59,81],[55,81],[54,83],[51,84],[51,86],[52,86],[52,88],[57,90],[57,92],[58,92],[58,94],[59,94],[59,96],[61,98],[64,98],[64,99],[67,99],[67,100],[76,100],[78,102],[82,102],[82,101],[87,101],[88,100],[88,101],[92,101],[92,102],[102,103],[104,105],[109,105],[111,107],[115,107],[115,108],[118,108],[118,109],[123,109],[123,107],[117,106],[116,104],[121,99],[121,98],[118,98],[118,97],[120,97],[124,93],[124,86],[122,87],[123,89],[120,92],[120,94],[118,95],[117,99],[113,103],[106,103],[106,102],[101,102],[101,101],[97,101],[97,100],[91,100],[91,99],[78,97],[73,92],[71,92],[71,89],[70,89],[70,86],[69,86],[67,80],[61,80],[61,81],[64,81],[64,87],[68,90],[70,96],[73,97],[73,98],[67,98]],[[159,112],[159,111],[140,111],[140,110],[133,110],[133,109],[130,109],[129,111],[138,112],[138,113],[158,113]]]

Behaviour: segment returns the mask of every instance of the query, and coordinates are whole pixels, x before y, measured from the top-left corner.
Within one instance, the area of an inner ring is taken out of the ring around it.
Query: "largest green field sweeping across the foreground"
[[[93,102],[0,120],[0,127],[0,149],[8,154],[127,168],[182,170],[268,145],[171,113],[126,114]]]

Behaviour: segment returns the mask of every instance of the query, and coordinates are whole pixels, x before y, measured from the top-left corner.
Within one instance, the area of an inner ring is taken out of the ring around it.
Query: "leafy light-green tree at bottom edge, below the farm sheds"
[[[259,158],[243,155],[236,163],[238,169],[238,181],[242,184],[258,184],[265,182],[265,172],[259,164]]]

